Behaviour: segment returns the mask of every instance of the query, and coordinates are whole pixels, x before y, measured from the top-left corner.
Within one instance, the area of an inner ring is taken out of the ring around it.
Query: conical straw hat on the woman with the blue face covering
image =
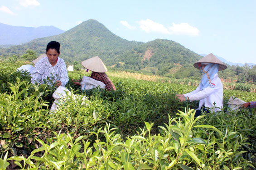
[[[208,54],[202,59],[200,59],[198,62],[194,63],[194,67],[197,69],[200,69],[201,63],[213,63],[213,64],[219,64],[219,71],[227,69],[227,66],[221,62],[215,55]]]

